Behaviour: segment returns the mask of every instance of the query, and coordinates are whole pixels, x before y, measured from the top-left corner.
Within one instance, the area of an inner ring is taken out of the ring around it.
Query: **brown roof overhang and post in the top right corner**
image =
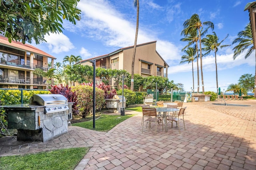
[[[253,40],[253,46],[255,49],[256,47],[256,1],[249,2],[248,4],[246,4],[244,10],[249,11],[250,23],[252,28],[252,40]]]

